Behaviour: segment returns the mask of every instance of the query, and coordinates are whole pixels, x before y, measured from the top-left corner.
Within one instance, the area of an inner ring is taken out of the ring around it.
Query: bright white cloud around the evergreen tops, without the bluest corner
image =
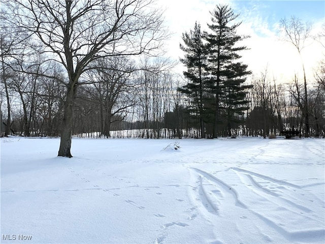
[[[276,16],[265,15],[267,4],[261,1],[247,2],[244,7],[239,2],[231,0],[217,3],[209,0],[159,0],[158,3],[166,8],[166,24],[173,33],[171,40],[166,44],[166,49],[167,55],[174,59],[183,56],[179,49],[182,33],[192,29],[196,21],[201,23],[202,29],[207,30],[206,23],[211,22],[210,11],[213,11],[216,4],[223,3],[229,4],[235,13],[240,12],[238,21],[242,21],[242,24],[238,33],[251,36],[242,43],[250,50],[243,51],[241,55],[243,62],[248,64],[253,73],[259,74],[268,66],[269,72],[279,82],[288,82],[293,79],[295,73],[301,74],[301,60],[297,50],[290,43],[279,40],[277,30],[280,19],[274,22]],[[314,32],[320,29],[320,23],[321,20],[314,24],[316,26]],[[317,63],[324,58],[321,48],[319,43],[313,42],[302,52],[309,79],[312,79],[313,69],[317,67]],[[182,65],[177,69],[185,70]]]

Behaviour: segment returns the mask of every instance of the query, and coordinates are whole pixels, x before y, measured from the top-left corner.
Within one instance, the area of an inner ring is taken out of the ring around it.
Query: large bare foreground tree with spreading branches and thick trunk
[[[8,27],[22,29],[66,69],[64,115],[58,156],[72,157],[73,108],[79,79],[96,59],[151,53],[168,35],[154,0],[13,0]],[[56,77],[51,77],[56,78]]]

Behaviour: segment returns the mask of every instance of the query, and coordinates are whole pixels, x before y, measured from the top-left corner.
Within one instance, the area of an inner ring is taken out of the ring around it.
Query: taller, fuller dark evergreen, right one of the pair
[[[208,27],[211,33],[205,32],[204,38],[209,51],[208,87],[215,100],[213,137],[216,138],[222,118],[227,121],[230,134],[231,122],[236,121],[236,116],[247,109],[245,97],[248,86],[243,83],[250,71],[247,71],[247,65],[236,62],[241,57],[238,52],[247,49],[246,46],[237,44],[245,38],[236,34],[241,22],[231,24],[239,14],[234,14],[228,5],[221,4],[210,13],[212,24],[208,24]]]

